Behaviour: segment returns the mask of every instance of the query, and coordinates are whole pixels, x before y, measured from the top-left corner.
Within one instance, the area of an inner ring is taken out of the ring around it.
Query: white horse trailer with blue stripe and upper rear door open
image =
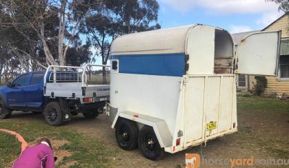
[[[235,47],[226,30],[197,24],[115,39],[106,112],[119,146],[155,160],[237,132],[236,74],[277,75],[280,36]]]

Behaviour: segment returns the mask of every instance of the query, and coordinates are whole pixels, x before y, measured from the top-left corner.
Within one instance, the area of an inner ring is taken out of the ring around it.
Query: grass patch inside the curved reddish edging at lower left
[[[0,167],[17,159],[21,152],[21,143],[11,134],[0,132]]]

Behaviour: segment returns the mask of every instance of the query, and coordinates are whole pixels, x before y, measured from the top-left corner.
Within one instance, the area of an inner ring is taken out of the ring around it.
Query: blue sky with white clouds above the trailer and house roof
[[[157,0],[161,28],[202,23],[231,33],[262,30],[275,21],[279,12],[266,0]]]

